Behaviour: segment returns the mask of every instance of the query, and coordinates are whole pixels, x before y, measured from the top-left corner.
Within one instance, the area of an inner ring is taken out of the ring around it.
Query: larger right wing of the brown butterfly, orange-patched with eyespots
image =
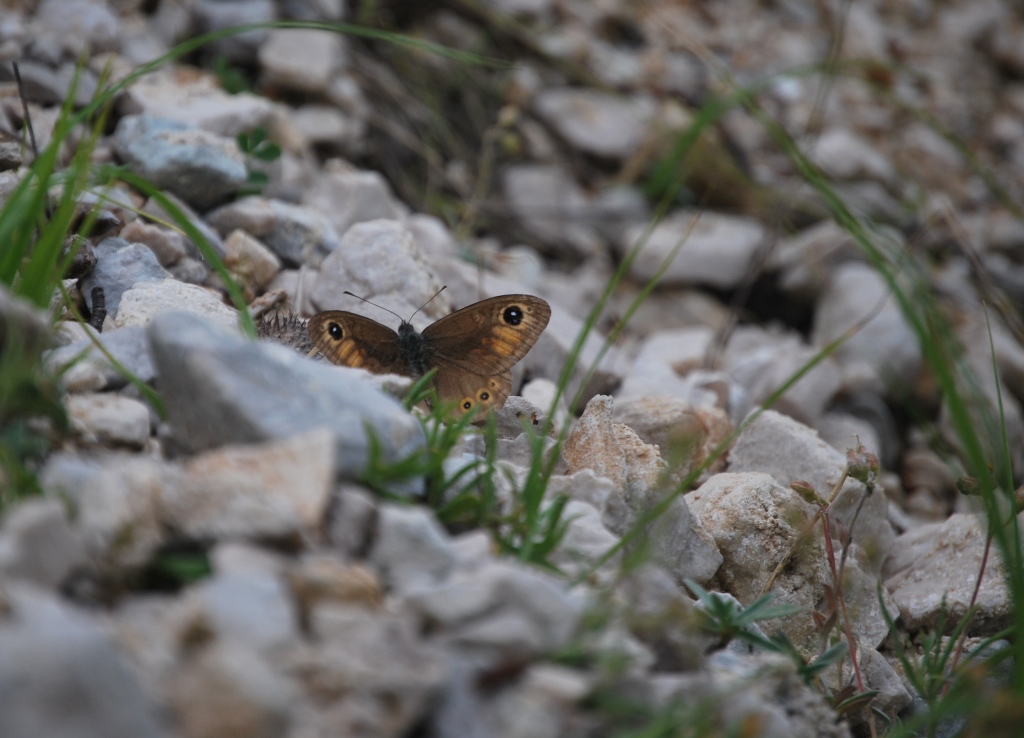
[[[445,315],[423,332],[437,367],[434,387],[442,402],[465,413],[501,407],[512,391],[512,366],[526,355],[551,317],[539,297],[503,295]]]

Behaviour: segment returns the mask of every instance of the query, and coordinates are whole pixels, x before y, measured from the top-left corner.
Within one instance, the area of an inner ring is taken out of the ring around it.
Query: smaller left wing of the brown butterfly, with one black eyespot
[[[373,374],[408,374],[398,334],[376,320],[344,310],[327,310],[309,318],[306,331],[331,363]]]

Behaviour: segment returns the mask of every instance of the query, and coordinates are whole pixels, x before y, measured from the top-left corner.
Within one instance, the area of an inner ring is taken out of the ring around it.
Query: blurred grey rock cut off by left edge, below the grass
[[[84,563],[81,536],[59,500],[28,500],[8,510],[0,527],[0,578],[55,589]]]

